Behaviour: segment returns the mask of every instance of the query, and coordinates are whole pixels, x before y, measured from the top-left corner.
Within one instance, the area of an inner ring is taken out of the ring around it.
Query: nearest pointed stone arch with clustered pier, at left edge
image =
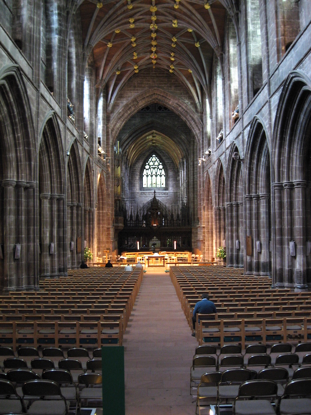
[[[0,71],[0,288],[38,285],[35,139],[30,103],[17,65]],[[15,244],[20,257],[14,259]]]

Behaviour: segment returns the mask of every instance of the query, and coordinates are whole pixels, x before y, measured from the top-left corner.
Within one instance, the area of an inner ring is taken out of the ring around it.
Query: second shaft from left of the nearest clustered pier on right
[[[283,201],[283,283],[293,287],[293,257],[290,255],[290,241],[293,239],[292,223],[292,191],[293,183],[284,182],[282,191]]]

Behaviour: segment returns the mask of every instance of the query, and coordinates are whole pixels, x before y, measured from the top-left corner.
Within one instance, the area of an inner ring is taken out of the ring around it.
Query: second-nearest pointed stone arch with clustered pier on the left
[[[40,276],[63,275],[65,270],[64,155],[56,115],[43,126],[39,148]]]

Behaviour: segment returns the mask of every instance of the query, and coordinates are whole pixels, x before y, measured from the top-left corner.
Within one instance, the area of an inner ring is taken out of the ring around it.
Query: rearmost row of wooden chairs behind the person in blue
[[[200,320],[198,325],[199,344],[241,343],[245,345],[254,342],[271,344],[276,341],[294,343],[306,342],[311,338],[311,317],[284,318],[251,318],[251,319],[220,319]]]

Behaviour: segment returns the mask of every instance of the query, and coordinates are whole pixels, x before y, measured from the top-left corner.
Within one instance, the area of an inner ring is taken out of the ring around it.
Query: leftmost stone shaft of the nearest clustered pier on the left
[[[15,180],[3,180],[4,187],[4,289],[14,290],[16,288],[16,275],[14,264],[14,245],[16,243],[15,229]]]

